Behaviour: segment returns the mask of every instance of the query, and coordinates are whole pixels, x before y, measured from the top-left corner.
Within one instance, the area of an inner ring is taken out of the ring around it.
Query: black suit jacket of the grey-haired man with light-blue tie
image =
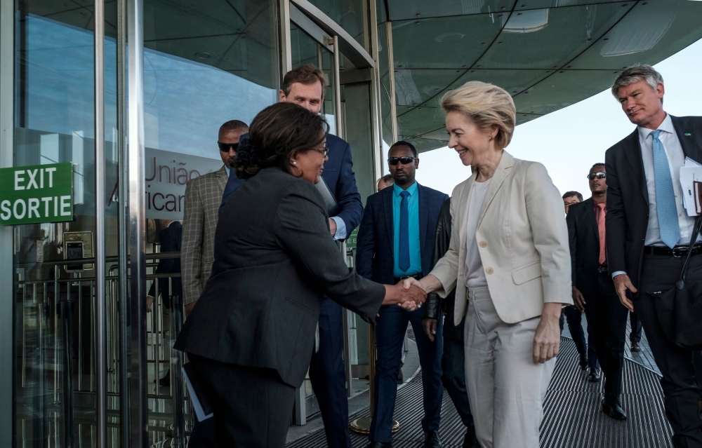
[[[702,163],[702,117],[671,115],[670,119],[685,156]],[[649,194],[637,129],[607,149],[604,164],[609,272],[625,271],[638,288],[649,222]]]

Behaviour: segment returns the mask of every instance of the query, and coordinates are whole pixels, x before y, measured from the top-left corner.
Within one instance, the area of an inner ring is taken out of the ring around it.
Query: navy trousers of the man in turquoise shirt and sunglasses
[[[434,342],[424,334],[422,310],[404,311],[397,305],[380,307],[380,317],[376,320],[376,360],[375,412],[371,421],[371,442],[392,442],[392,414],[395,412],[397,395],[397,372],[402,358],[402,343],[407,323],[412,324],[422,366],[422,386],[424,397],[423,430],[439,430],[441,403],[444,396],[442,385],[441,358],[444,353],[443,319],[437,323]]]

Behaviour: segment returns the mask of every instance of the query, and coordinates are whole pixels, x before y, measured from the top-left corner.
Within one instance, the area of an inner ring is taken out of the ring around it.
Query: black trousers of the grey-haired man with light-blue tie
[[[698,411],[699,392],[695,382],[693,353],[665,338],[654,304],[655,300],[660,299],[649,294],[675,287],[682,263],[682,258],[644,255],[634,311],[644,325],[649,347],[663,374],[661,387],[665,396],[665,415],[673,427],[673,446],[701,448],[702,420]],[[701,256],[693,255],[690,258],[687,279],[702,280]]]

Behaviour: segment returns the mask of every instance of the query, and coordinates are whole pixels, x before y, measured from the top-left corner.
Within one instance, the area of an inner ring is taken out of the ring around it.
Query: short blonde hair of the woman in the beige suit
[[[481,81],[468,81],[441,99],[444,112],[459,112],[480,130],[498,126],[495,144],[503,149],[512,141],[517,109],[507,90]]]

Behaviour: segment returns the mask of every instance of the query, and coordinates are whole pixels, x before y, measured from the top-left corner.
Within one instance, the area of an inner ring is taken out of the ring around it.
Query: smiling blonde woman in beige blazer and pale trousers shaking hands
[[[449,147],[473,173],[451,196],[449,252],[419,283],[439,295],[456,287],[456,325],[467,315],[466,385],[482,447],[537,448],[558,318],[572,303],[562,200],[541,163],[504,150],[515,128],[509,93],[472,81],[442,109]]]

